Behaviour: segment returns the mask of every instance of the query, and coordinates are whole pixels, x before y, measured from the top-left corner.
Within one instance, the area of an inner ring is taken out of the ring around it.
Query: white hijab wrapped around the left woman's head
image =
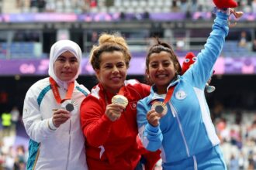
[[[61,81],[59,78],[57,78],[56,74],[54,73],[54,63],[58,56],[60,56],[62,53],[69,51],[74,54],[74,56],[78,59],[78,73],[73,77],[71,81],[65,82]],[[81,70],[81,49],[78,46],[77,43],[71,41],[71,40],[60,40],[54,43],[53,46],[50,48],[50,62],[49,62],[49,76],[51,76],[60,87],[63,87],[64,89],[67,89],[68,83],[76,80],[78,78],[78,75]]]

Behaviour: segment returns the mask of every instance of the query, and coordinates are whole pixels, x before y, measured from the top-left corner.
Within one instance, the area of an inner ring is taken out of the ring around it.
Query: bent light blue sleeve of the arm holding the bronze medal
[[[137,103],[137,124],[139,136],[144,148],[149,151],[157,151],[161,148],[161,142],[163,141],[163,134],[161,132],[160,126],[151,126],[147,122],[147,111],[150,107],[143,100],[139,100]]]

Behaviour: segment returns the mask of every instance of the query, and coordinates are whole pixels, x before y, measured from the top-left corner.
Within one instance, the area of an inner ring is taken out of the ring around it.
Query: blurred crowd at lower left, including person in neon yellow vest
[[[17,133],[18,130],[20,131],[19,127],[22,127],[22,121],[17,107],[13,107],[9,112],[1,114],[0,170],[26,169],[28,146],[17,141],[20,135]]]

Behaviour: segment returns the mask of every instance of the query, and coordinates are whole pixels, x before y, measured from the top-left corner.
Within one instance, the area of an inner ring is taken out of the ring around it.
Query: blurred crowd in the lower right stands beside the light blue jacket
[[[215,124],[228,169],[256,169],[255,114],[226,111]]]

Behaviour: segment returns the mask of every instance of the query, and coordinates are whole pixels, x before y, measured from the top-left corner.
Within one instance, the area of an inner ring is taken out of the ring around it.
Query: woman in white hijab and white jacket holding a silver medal
[[[76,81],[80,70],[78,44],[54,43],[50,77],[34,83],[24,100],[22,119],[30,138],[26,169],[88,169],[79,110],[90,92]]]

